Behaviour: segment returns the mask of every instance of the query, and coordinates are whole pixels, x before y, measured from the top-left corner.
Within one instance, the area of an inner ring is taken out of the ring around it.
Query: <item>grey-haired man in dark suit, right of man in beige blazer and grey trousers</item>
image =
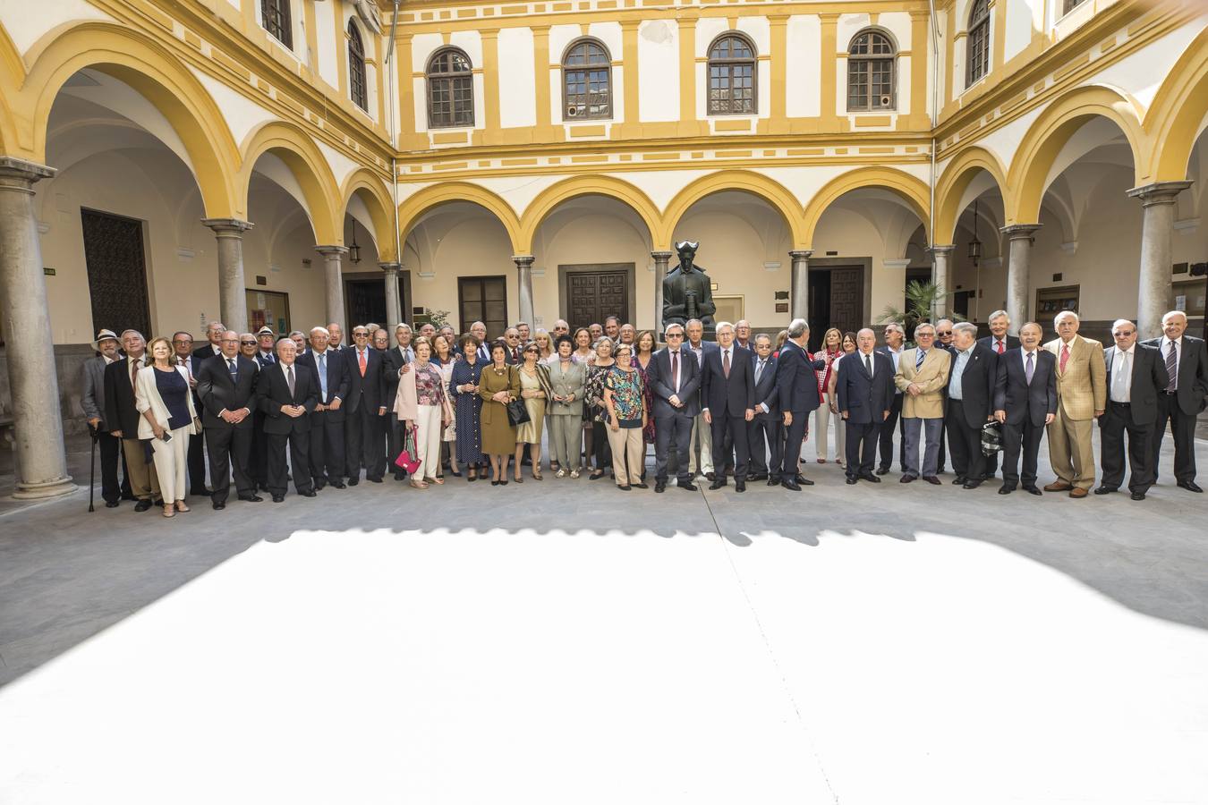
[[[957,349],[948,371],[948,413],[945,425],[952,445],[954,484],[977,489],[986,474],[986,456],[981,451],[981,430],[993,416],[994,386],[998,383],[998,356],[977,343],[977,326],[968,321],[953,325],[952,343]]]

